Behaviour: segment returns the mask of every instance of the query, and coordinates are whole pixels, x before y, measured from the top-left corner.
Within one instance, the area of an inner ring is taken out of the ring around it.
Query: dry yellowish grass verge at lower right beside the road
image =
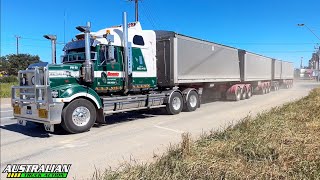
[[[182,143],[151,164],[95,179],[320,179],[320,89],[222,132]]]

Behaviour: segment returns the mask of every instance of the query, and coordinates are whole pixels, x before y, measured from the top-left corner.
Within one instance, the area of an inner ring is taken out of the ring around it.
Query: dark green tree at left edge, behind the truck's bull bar
[[[19,70],[26,69],[30,64],[41,62],[38,55],[30,54],[9,54],[0,57],[0,60],[0,69],[9,75],[17,75]]]

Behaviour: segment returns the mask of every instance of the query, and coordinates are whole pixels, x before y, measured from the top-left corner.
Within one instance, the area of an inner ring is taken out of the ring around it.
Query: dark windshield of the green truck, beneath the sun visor
[[[91,51],[91,60],[97,59],[97,53]],[[62,56],[61,61],[62,63],[69,63],[69,62],[81,62],[86,60],[86,54],[84,52],[84,48],[81,49],[74,49],[67,52],[66,55]]]

